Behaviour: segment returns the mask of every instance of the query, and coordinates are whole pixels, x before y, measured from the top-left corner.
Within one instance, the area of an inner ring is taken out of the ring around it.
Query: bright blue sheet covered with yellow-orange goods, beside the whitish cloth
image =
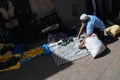
[[[21,64],[23,64],[23,63],[29,62],[30,60],[32,60],[36,57],[39,57],[42,55],[47,55],[50,53],[51,53],[51,51],[50,51],[49,47],[46,44],[44,44],[40,47],[36,47],[35,49],[24,51],[20,61],[21,61]]]

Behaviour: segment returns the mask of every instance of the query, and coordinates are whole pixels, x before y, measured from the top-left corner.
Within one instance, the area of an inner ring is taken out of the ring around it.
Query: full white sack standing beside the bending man
[[[105,50],[105,45],[98,39],[96,34],[92,34],[85,40],[85,47],[88,49],[90,54],[95,58],[97,55]]]

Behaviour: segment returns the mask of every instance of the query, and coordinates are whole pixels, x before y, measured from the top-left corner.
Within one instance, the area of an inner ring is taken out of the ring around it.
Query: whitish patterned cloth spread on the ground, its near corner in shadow
[[[52,57],[57,66],[78,60],[89,55],[87,49],[79,49],[76,46],[80,43],[79,39],[77,39],[77,37],[74,39],[73,42],[70,42],[66,46],[54,45],[52,47],[49,47],[52,51]]]

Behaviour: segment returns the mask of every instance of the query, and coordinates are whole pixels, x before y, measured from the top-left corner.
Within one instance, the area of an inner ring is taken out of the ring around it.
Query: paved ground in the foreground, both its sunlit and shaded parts
[[[120,37],[106,51],[57,67],[51,55],[22,65],[20,70],[0,73],[0,80],[120,80]]]

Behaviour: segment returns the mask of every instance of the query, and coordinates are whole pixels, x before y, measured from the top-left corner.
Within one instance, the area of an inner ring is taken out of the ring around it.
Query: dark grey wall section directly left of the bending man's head
[[[56,0],[56,10],[64,25],[71,28],[79,21],[79,16],[86,13],[85,0]]]

